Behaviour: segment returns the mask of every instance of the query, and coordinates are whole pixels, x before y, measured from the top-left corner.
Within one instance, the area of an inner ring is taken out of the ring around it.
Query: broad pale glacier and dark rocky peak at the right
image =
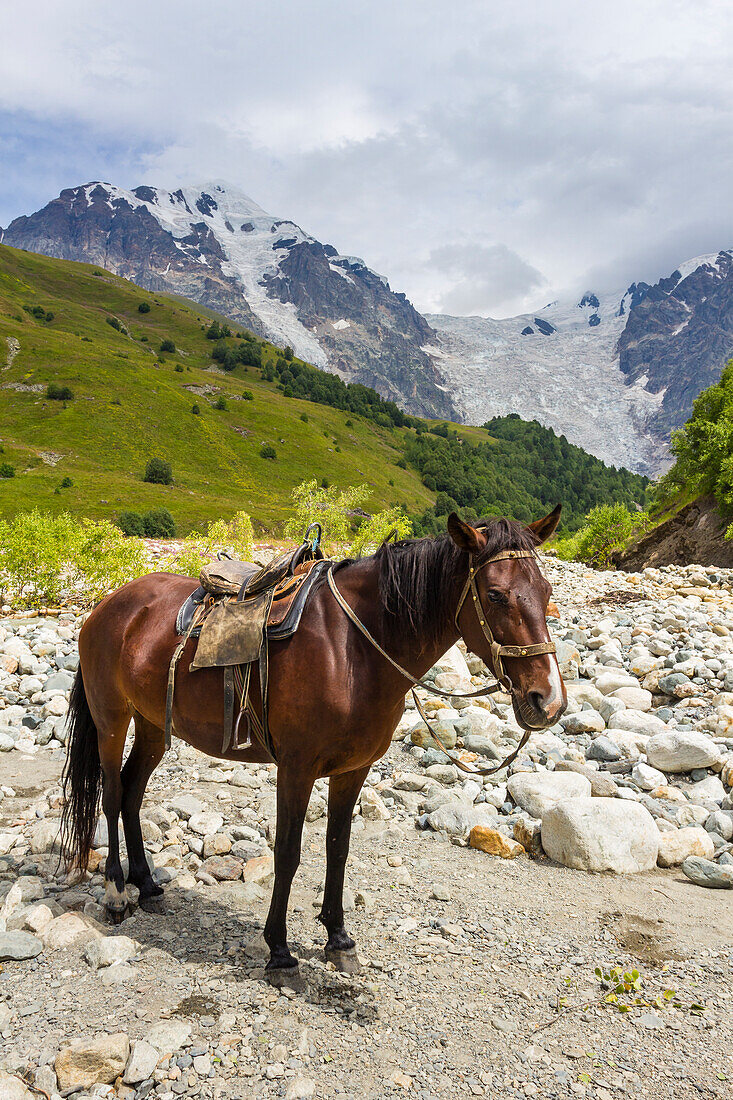
[[[654,474],[670,431],[733,355],[733,253],[699,256],[656,285],[584,294],[504,320],[428,315],[463,418],[518,413],[613,465]]]

